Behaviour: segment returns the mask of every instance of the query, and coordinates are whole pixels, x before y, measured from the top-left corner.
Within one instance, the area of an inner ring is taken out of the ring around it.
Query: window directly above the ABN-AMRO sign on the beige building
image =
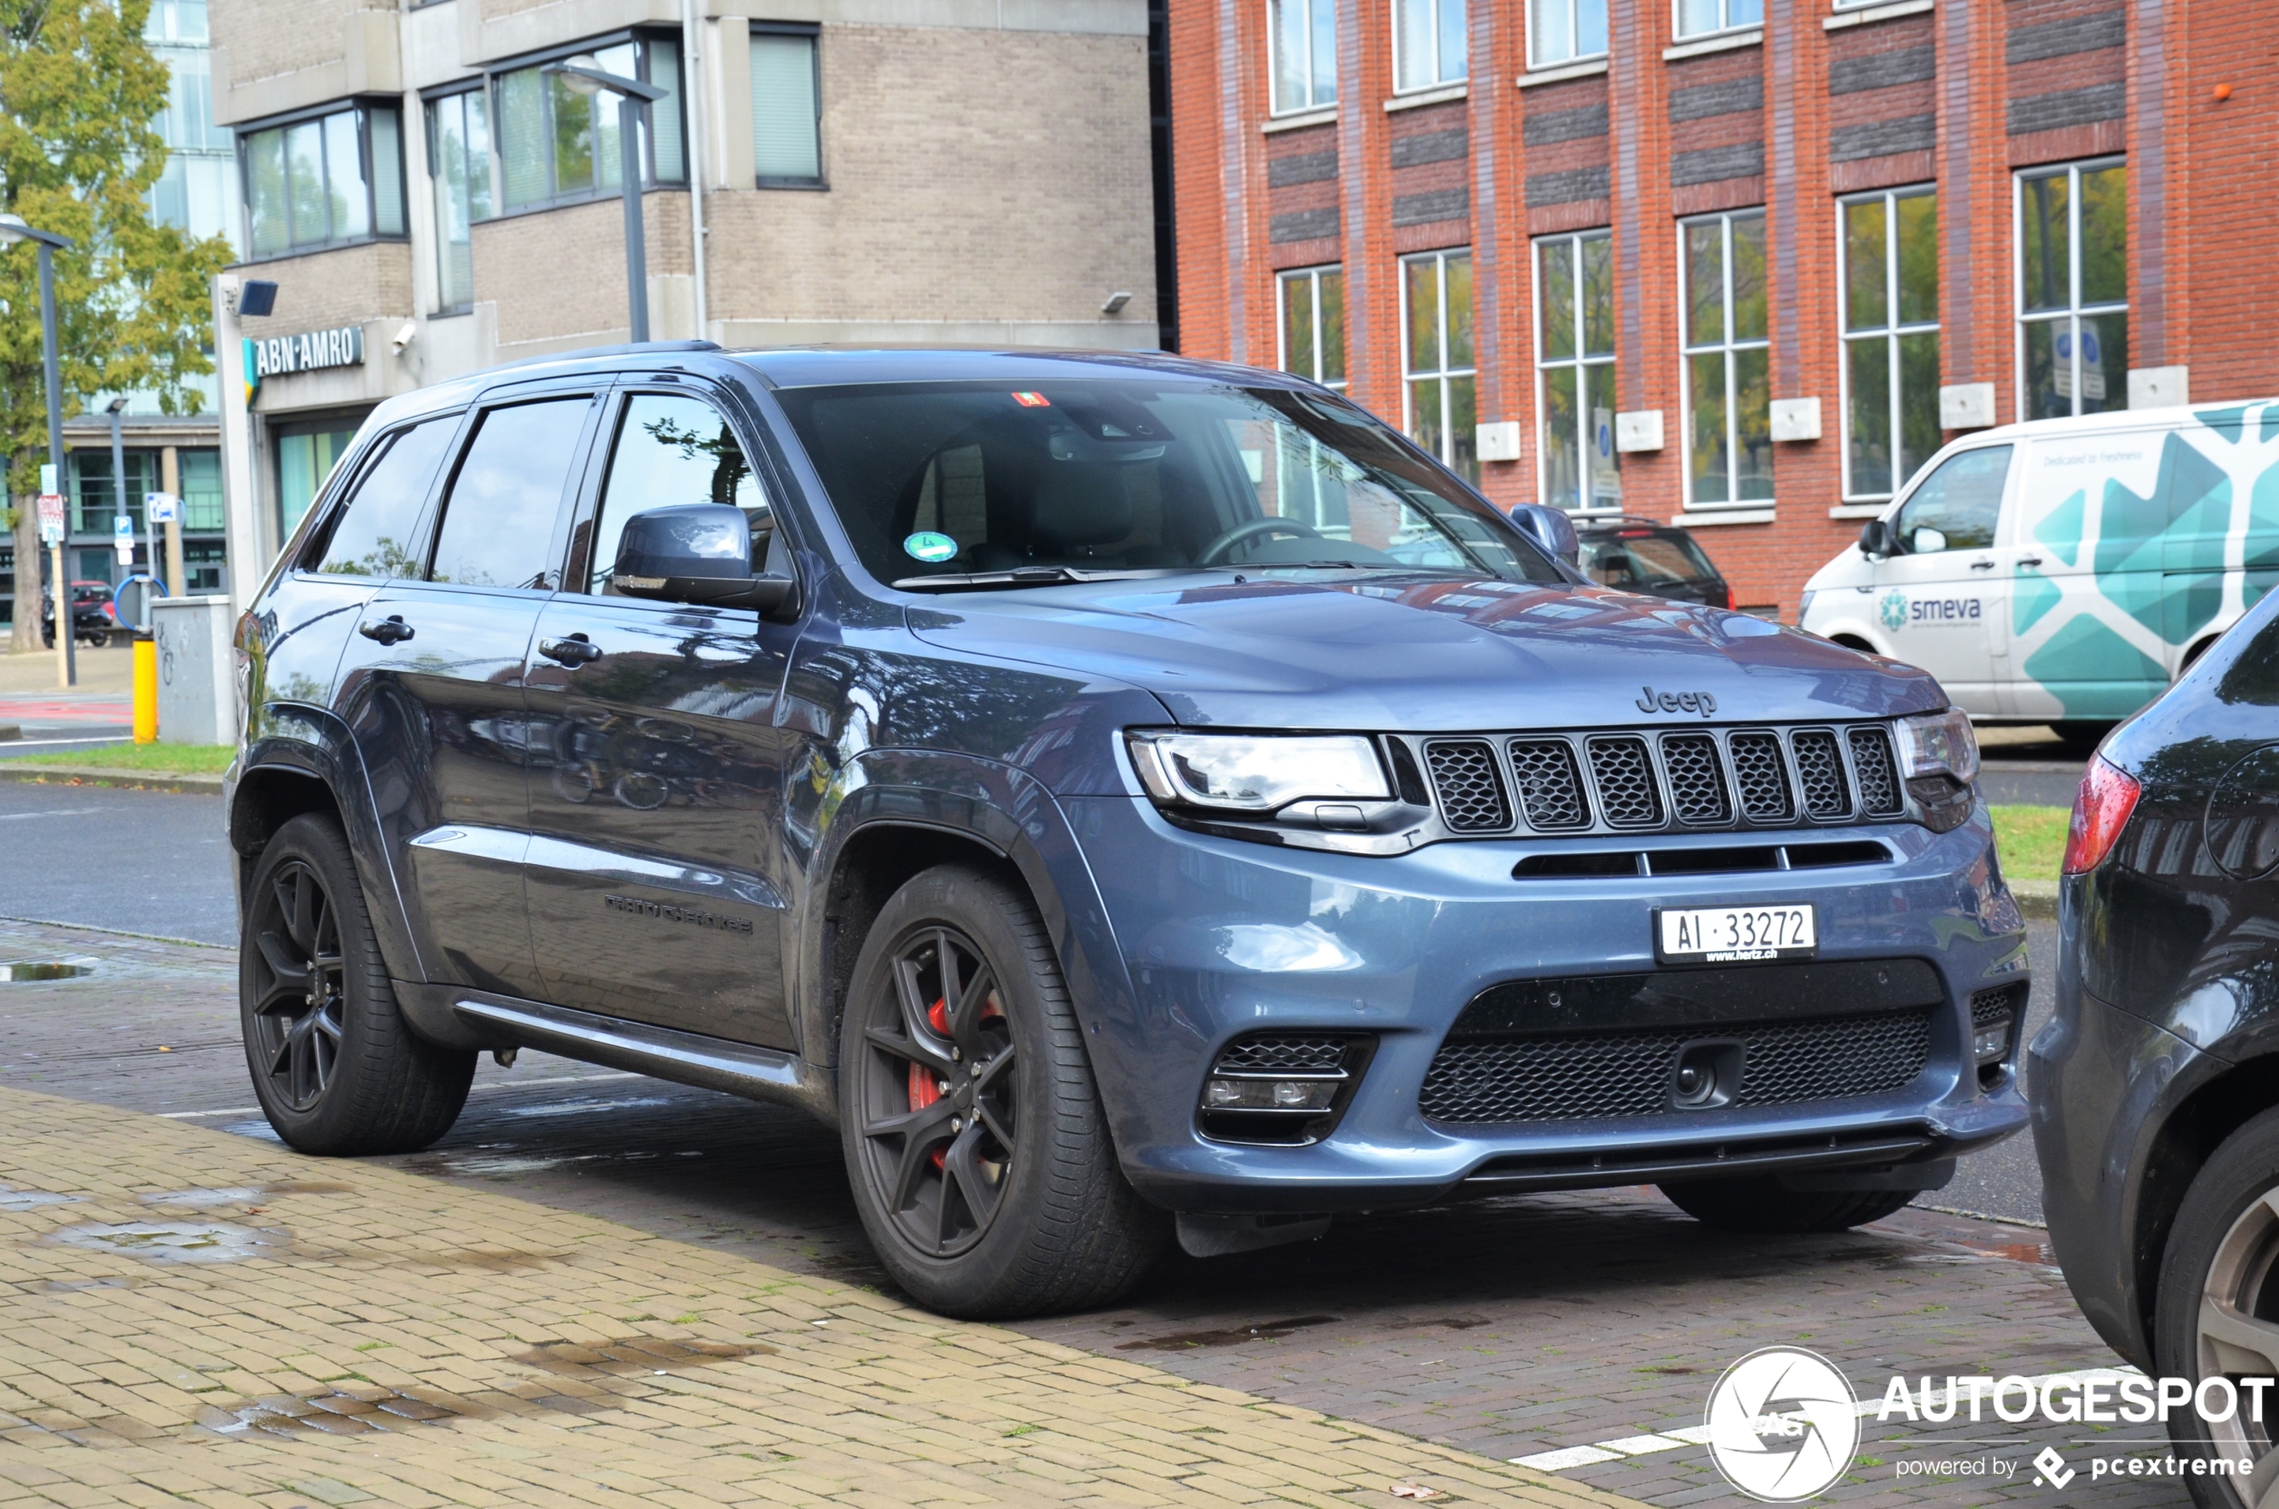
[[[403,146],[392,105],[351,105],[242,134],[255,258],[403,235]]]

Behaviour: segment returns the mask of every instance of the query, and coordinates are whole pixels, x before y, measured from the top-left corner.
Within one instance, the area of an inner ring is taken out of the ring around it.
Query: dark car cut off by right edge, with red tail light
[[[2279,1375],[2279,593],[2081,777],[2058,1008],[2033,1042],[2049,1240],[2097,1331],[2165,1377]],[[2245,1397],[2245,1395],[2243,1395]],[[2208,1509],[2268,1502],[2272,1416],[2170,1416]]]

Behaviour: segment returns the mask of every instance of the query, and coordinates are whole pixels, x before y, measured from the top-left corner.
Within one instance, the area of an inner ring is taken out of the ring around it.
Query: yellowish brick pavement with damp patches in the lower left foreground
[[[1623,1509],[506,1194],[0,1090],[0,1502]]]

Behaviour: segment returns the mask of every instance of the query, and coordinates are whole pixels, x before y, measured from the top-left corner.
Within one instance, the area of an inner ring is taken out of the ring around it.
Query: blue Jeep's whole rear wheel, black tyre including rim
[[[333,818],[301,814],[269,839],[239,928],[246,1069],[287,1147],[410,1153],[451,1131],[474,1053],[438,1049],[403,1021]]]

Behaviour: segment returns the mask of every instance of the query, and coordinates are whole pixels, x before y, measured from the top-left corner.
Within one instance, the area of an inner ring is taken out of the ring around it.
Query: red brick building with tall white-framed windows
[[[2279,392],[2245,0],[1169,0],[1181,349],[1743,606],[1960,429]]]

